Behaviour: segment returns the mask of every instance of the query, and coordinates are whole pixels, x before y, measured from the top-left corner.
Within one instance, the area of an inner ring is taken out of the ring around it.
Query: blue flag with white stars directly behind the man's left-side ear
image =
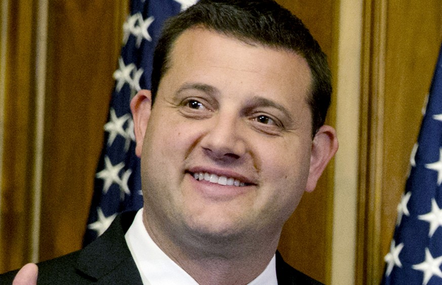
[[[132,0],[131,15],[123,24],[123,47],[114,72],[115,89],[94,182],[84,245],[101,235],[117,213],[143,206],[140,161],[135,155],[130,100],[150,89],[155,43],[164,21],[197,0]]]

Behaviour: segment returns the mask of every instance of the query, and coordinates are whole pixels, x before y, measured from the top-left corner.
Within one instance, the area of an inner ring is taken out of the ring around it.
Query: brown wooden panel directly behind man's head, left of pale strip
[[[333,15],[337,1],[277,2],[304,22],[328,55],[331,64],[335,20]],[[329,112],[328,124],[333,125],[334,105]],[[283,229],[278,247],[289,264],[325,283],[330,283],[331,279],[334,175],[332,165],[333,162],[319,180],[315,191],[304,194],[298,208]]]

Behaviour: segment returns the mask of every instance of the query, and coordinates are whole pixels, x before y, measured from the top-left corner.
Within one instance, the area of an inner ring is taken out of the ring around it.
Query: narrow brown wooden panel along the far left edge
[[[34,122],[33,1],[10,2],[0,202],[0,272],[30,257]],[[2,102],[3,103],[3,102]]]

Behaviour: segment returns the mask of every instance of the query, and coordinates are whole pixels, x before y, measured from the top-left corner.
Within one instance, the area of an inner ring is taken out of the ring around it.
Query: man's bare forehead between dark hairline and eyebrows
[[[245,92],[287,94],[304,101],[310,93],[311,72],[302,56],[200,27],[177,38],[168,65],[165,77],[177,84],[179,80],[220,87],[235,84],[247,87]]]

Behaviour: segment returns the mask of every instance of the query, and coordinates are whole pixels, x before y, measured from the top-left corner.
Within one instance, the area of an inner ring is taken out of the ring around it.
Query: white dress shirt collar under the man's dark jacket
[[[144,285],[198,284],[192,276],[169,258],[149,236],[143,224],[143,209],[137,212],[125,238]],[[264,271],[249,283],[249,285],[261,284],[277,284],[275,256],[270,260]]]

